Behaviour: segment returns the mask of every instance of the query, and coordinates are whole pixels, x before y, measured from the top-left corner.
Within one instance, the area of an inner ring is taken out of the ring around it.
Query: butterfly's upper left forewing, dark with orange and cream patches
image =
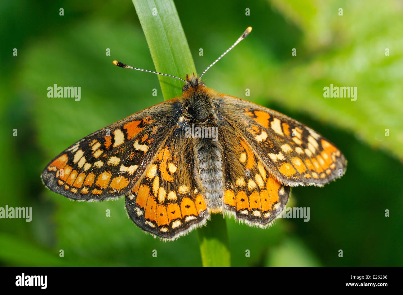
[[[133,114],[79,140],[42,172],[50,190],[74,200],[104,200],[128,192],[172,132],[178,99]]]

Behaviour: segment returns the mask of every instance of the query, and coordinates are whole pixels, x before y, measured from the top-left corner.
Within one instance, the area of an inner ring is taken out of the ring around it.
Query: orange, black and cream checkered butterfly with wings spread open
[[[205,225],[214,213],[267,227],[287,204],[291,186],[323,186],[341,177],[347,161],[320,134],[282,113],[206,87],[201,77],[229,50],[200,76],[172,76],[184,81],[181,97],[64,150],[45,167],[44,184],[79,201],[124,195],[136,225],[173,240]]]

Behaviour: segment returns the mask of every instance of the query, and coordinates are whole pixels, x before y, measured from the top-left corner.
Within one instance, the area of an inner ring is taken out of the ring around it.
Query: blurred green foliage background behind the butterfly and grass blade
[[[227,218],[232,265],[402,266],[402,2],[175,4],[199,74],[253,27],[204,76],[208,87],[307,124],[349,161],[337,182],[293,188],[289,206],[310,207],[309,222],[278,219],[262,230]],[[112,65],[116,59],[154,70],[132,2],[3,1],[0,12],[0,207],[33,211],[31,222],[0,219],[0,264],[200,266],[196,231],[162,242],[133,225],[123,198],[71,202],[46,190],[39,177],[70,144],[163,100],[156,75]],[[80,86],[81,101],[48,98],[54,84]],[[330,84],[356,86],[357,101],[324,98]]]

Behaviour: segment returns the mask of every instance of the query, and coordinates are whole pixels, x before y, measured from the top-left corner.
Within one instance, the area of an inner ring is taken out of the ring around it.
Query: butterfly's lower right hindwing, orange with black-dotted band
[[[274,178],[241,136],[221,135],[224,142],[224,212],[248,225],[270,225],[287,204],[290,187]]]

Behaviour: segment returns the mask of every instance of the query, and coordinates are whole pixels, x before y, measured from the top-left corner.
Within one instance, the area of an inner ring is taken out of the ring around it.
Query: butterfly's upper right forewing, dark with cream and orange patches
[[[231,96],[217,101],[258,160],[287,186],[323,186],[345,173],[347,161],[329,140],[282,113]]]

